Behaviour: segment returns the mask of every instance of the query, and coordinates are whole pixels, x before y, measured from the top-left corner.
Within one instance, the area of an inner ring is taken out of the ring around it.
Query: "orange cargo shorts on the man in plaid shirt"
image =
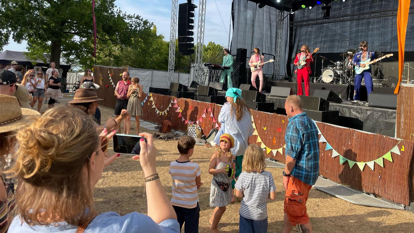
[[[303,183],[294,176],[291,176],[289,179],[283,211],[287,214],[289,222],[293,226],[309,223],[309,216],[306,213],[306,201],[311,188],[312,185]]]

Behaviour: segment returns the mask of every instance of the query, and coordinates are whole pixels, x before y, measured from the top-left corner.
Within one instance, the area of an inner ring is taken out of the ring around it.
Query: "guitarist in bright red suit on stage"
[[[305,95],[309,96],[309,75],[312,74],[312,71],[310,70],[310,63],[313,63],[313,58],[312,58],[312,54],[309,52],[309,47],[308,45],[303,45],[301,47],[301,52],[299,52],[296,55],[295,61],[293,62],[293,64],[295,64],[296,66],[299,64],[299,62],[301,60],[303,60],[306,62],[301,69],[296,69],[295,73],[298,77],[298,91],[297,91],[297,95],[303,95],[303,89],[302,89],[302,81],[305,82]]]

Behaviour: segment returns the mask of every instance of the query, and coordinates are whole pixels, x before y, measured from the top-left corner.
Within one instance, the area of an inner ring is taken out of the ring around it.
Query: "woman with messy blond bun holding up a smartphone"
[[[96,123],[81,109],[58,106],[49,109],[29,127],[17,133],[15,165],[18,215],[9,233],[178,233],[174,209],[156,172],[156,148],[152,136],[140,141],[140,159],[147,192],[148,215],[131,212],[99,213],[94,207],[94,186],[105,166],[120,154],[106,152],[115,131],[98,133]],[[41,137],[39,137],[41,135]]]

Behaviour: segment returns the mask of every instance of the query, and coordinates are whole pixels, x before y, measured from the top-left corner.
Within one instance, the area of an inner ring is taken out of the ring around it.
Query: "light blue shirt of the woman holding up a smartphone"
[[[51,225],[30,226],[20,220],[20,215],[14,217],[9,227],[9,233],[36,233],[36,232],[61,232],[75,233],[77,226],[60,222]],[[120,216],[116,212],[105,212],[99,214],[89,223],[84,233],[120,233],[120,232],[140,232],[140,233],[179,233],[180,225],[176,219],[167,219],[157,224],[149,216],[132,212]]]

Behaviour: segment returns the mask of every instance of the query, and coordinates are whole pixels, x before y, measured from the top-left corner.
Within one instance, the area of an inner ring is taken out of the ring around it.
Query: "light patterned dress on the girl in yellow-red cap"
[[[221,169],[225,166],[231,166],[229,162],[222,162],[220,160],[219,164],[214,167],[214,169]],[[219,185],[214,181],[216,179],[217,182],[224,182],[229,184],[229,189],[227,192],[221,190]],[[217,175],[213,175],[213,179],[211,181],[210,187],[210,207],[223,207],[227,206],[231,202],[231,198],[233,194],[231,193],[231,181],[233,180],[232,177],[228,177],[227,173],[219,173]]]

